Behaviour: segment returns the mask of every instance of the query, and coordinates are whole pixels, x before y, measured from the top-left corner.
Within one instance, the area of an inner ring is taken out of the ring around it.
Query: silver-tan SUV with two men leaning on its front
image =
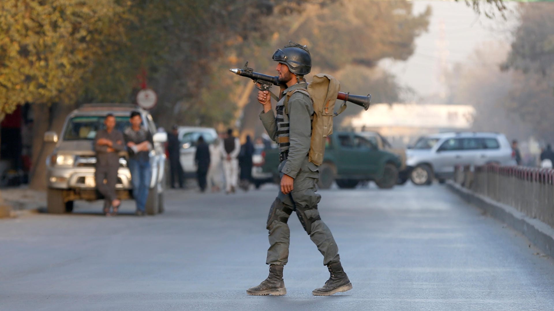
[[[135,105],[126,104],[90,104],[69,113],[63,129],[58,136],[55,132],[44,133],[44,141],[56,143],[54,152],[47,159],[47,209],[48,212],[61,214],[73,211],[75,200],[101,199],[96,190],[94,179],[96,153],[93,141],[96,132],[104,128],[104,118],[112,113],[116,118],[116,128],[121,132],[130,126],[129,116],[139,111],[142,126],[152,133],[154,149],[150,152],[152,179],[148,199],[147,214],[163,212],[163,190],[166,155],[163,143],[167,133],[156,133],[152,116]],[[131,172],[127,168],[127,152],[119,153],[116,193],[119,199],[129,199],[132,194]]]

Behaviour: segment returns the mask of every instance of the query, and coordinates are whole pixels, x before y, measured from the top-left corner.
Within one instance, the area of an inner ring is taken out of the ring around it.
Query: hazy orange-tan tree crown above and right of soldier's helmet
[[[283,38],[307,44],[313,63],[336,70],[347,64],[374,66],[383,58],[406,60],[414,39],[427,30],[431,9],[412,15],[407,1],[343,0],[290,17],[295,29]],[[286,41],[285,41],[286,42]]]

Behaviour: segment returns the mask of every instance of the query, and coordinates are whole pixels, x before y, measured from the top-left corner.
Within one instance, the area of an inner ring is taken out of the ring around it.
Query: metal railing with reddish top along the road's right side
[[[456,167],[454,181],[554,227],[554,169]]]

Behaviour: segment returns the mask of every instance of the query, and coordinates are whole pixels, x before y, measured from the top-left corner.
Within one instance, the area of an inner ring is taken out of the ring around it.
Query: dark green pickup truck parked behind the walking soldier
[[[279,180],[279,149],[265,149],[265,152],[263,170]],[[337,132],[327,136],[317,185],[329,189],[336,182],[339,188],[354,188],[362,181],[373,180],[379,188],[392,188],[401,165],[398,155],[379,150],[360,134]]]

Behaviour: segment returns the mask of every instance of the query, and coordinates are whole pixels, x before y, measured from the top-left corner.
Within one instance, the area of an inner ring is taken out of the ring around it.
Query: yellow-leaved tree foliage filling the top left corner
[[[114,0],[0,2],[0,111],[71,102],[98,56],[123,39]]]

